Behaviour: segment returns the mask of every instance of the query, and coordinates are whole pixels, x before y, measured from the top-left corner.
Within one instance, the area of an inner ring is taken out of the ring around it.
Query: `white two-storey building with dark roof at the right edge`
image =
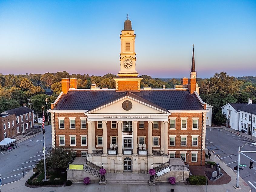
[[[222,113],[227,117],[227,126],[238,130],[245,131],[250,134],[252,128],[252,135],[256,136],[256,103],[252,103],[249,98],[248,103],[228,103],[222,108]]]

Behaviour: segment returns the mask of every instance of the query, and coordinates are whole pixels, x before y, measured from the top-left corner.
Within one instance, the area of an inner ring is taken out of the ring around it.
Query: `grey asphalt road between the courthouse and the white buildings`
[[[206,148],[214,151],[216,158],[218,157],[227,164],[232,170],[238,163],[238,146],[243,146],[244,144],[254,141],[233,134],[225,129],[218,128],[206,128]],[[241,148],[241,151],[256,151],[256,146],[252,144],[247,144]],[[246,153],[247,156],[256,160],[256,153]],[[205,161],[207,161],[205,159]],[[246,181],[246,183],[251,187],[253,192],[256,192],[256,163],[254,167],[249,169],[250,160],[243,155],[240,155],[240,164],[245,164],[243,170],[240,170],[239,175]],[[236,170],[234,170],[237,172]]]

